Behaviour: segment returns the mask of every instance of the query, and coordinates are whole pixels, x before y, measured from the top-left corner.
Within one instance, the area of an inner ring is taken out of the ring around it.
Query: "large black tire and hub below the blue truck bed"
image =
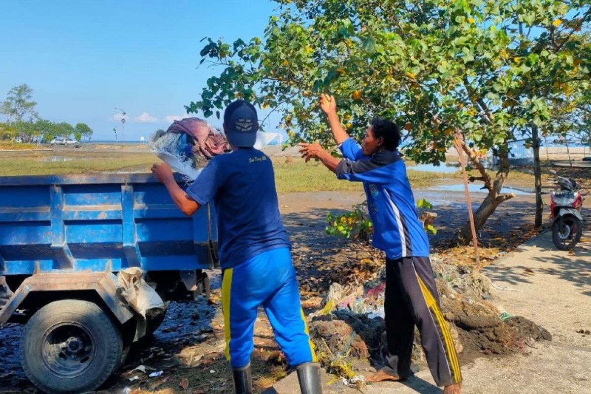
[[[37,311],[21,337],[21,364],[47,393],[95,390],[122,357],[121,330],[98,305],[62,299]]]

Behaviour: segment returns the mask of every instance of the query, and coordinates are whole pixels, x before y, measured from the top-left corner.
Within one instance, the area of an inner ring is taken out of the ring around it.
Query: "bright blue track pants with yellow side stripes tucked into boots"
[[[271,249],[223,271],[226,359],[233,368],[250,362],[259,305],[265,308],[275,340],[290,366],[317,361],[289,249]]]

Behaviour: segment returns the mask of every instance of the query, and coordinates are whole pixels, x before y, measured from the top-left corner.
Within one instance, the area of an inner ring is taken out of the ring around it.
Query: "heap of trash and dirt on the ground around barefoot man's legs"
[[[441,311],[457,353],[507,354],[538,340],[551,340],[544,328],[488,302],[492,282],[482,272],[446,264],[436,256],[431,262]],[[310,337],[320,362],[329,372],[342,376],[348,386],[363,385],[352,369],[356,360],[365,360],[376,368],[385,364],[384,271],[382,268],[365,286],[332,284],[322,309],[309,315]],[[426,364],[418,330],[413,363]]]

